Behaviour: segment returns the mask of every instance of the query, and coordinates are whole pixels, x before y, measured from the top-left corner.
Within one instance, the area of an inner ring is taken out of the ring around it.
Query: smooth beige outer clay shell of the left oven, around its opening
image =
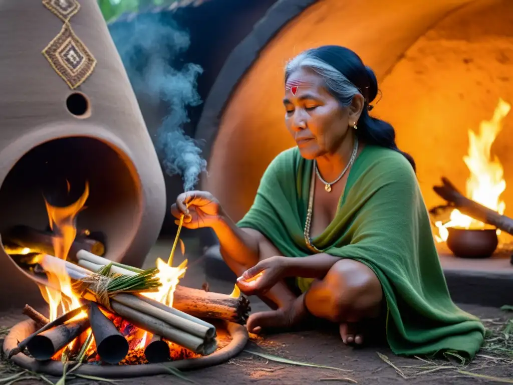
[[[74,90],[42,54],[42,50],[60,33],[64,22],[46,9],[42,2],[0,2],[0,32],[13,36],[0,42],[0,89],[9,90],[0,95],[0,183],[4,184],[16,162],[39,145],[49,145],[53,158],[58,158],[54,155],[59,152],[58,147],[64,152],[67,149],[64,138],[103,142],[104,146],[117,152],[119,164],[114,168],[124,169],[123,172],[130,175],[128,179],[131,180],[127,180],[126,186],[133,191],[136,199],[122,209],[129,214],[124,219],[131,224],[129,229],[117,230],[118,218],[114,215],[109,219],[110,215],[107,215],[103,228],[90,230],[103,231],[107,233],[108,239],[113,240],[107,258],[117,261],[123,259],[125,263],[140,265],[159,235],[166,212],[164,177],[102,13],[96,2],[78,2],[80,10],[71,17],[69,25],[94,56],[96,66],[90,76]],[[75,56],[73,58],[76,59]],[[89,102],[88,112],[81,117],[70,113],[67,105],[68,97],[77,91],[85,95]],[[47,144],[56,139],[62,144]],[[87,148],[85,152],[78,151],[74,157],[71,154],[70,157],[59,158],[60,162],[54,165],[56,172],[59,171],[59,164],[87,165],[88,161],[95,161],[95,157],[101,158],[104,152],[101,144],[84,144],[83,147]],[[81,145],[76,147],[81,148]],[[111,159],[106,156],[105,166],[107,158]],[[37,160],[40,163],[46,161],[44,157]],[[98,174],[112,169],[109,166],[107,169],[101,166],[96,168]],[[68,178],[79,179],[76,175],[69,175]],[[62,183],[65,189],[66,182]],[[124,186],[120,183],[120,188]],[[92,198],[93,186],[90,187]],[[61,185],[55,186],[57,192],[62,188]],[[96,183],[94,188],[97,190],[95,194],[100,195],[103,189],[109,187],[105,183]],[[93,203],[109,211],[108,202]],[[2,207],[9,206],[9,202],[5,201],[0,204]],[[43,207],[42,220],[46,216],[44,210]],[[83,214],[87,216],[85,211]],[[18,217],[19,221],[23,219],[22,216]],[[5,218],[0,218],[0,225],[4,221]],[[80,224],[80,216],[78,222]]]

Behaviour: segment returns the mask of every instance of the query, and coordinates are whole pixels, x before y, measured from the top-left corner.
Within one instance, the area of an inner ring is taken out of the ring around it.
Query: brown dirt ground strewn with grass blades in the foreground
[[[191,264],[183,284],[201,287],[205,273],[198,265]],[[230,293],[233,284],[207,280],[211,291]],[[259,300],[252,300],[252,310],[265,310],[266,306]],[[502,325],[508,314],[490,307],[462,305],[463,309],[476,314],[490,322],[490,325]],[[0,314],[0,326],[11,326],[23,316],[21,310]],[[510,314],[509,314],[510,316]],[[217,367],[185,373],[186,377],[203,385],[218,384],[284,384],[298,383],[359,383],[359,384],[437,384],[459,385],[469,383],[513,383],[513,360],[491,359],[495,354],[482,351],[482,355],[468,367],[456,362],[423,362],[416,358],[394,356],[385,346],[354,349],[346,347],[340,336],[329,331],[302,331],[268,335],[262,341],[250,341],[247,350],[263,352],[291,360],[303,361],[336,367],[345,371],[301,367],[264,359],[244,352],[235,359]],[[380,357],[380,354],[382,355]],[[389,362],[385,362],[388,357]],[[395,366],[397,369],[394,369]],[[500,377],[503,381],[489,377],[477,378],[466,372],[485,376]],[[506,380],[506,381],[504,381]],[[56,382],[53,381],[53,382]],[[187,383],[172,375],[142,377],[120,380],[127,385],[159,385],[162,383]],[[19,381],[17,384],[35,384],[34,381]],[[81,379],[67,380],[66,384],[94,383]],[[98,382],[99,383],[99,382]],[[0,384],[9,384],[2,381]]]

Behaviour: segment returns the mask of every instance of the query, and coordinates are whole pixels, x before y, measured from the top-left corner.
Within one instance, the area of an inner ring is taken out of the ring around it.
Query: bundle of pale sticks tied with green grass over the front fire
[[[156,291],[161,286],[156,276],[157,268],[124,275],[111,273],[112,266],[115,266],[111,261],[90,271],[49,255],[44,259],[44,266],[50,269],[56,264],[65,267],[74,281],[73,290],[77,295],[102,305],[138,328],[201,355],[211,354],[217,349],[212,324],[139,294]],[[59,290],[58,287],[53,288]]]

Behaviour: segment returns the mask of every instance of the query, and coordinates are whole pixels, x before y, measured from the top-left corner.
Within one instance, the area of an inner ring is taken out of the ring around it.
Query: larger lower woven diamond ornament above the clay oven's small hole
[[[71,89],[84,83],[96,66],[96,59],[68,23],[43,50],[43,55]]]

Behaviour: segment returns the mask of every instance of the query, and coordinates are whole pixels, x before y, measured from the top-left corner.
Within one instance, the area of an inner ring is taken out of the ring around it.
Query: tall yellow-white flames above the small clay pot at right
[[[499,99],[494,115],[489,121],[482,121],[479,126],[479,135],[468,130],[468,155],[463,157],[470,171],[470,177],[466,182],[466,196],[477,203],[482,204],[499,214],[504,214],[506,204],[500,199],[506,189],[504,169],[497,157],[491,158],[491,146],[502,129],[502,122],[509,113],[511,105]],[[458,209],[453,209],[449,222],[443,224],[436,222],[438,236],[437,242],[444,242],[448,237],[448,227],[484,229],[485,224],[462,214]],[[497,230],[498,234],[500,230]]]

